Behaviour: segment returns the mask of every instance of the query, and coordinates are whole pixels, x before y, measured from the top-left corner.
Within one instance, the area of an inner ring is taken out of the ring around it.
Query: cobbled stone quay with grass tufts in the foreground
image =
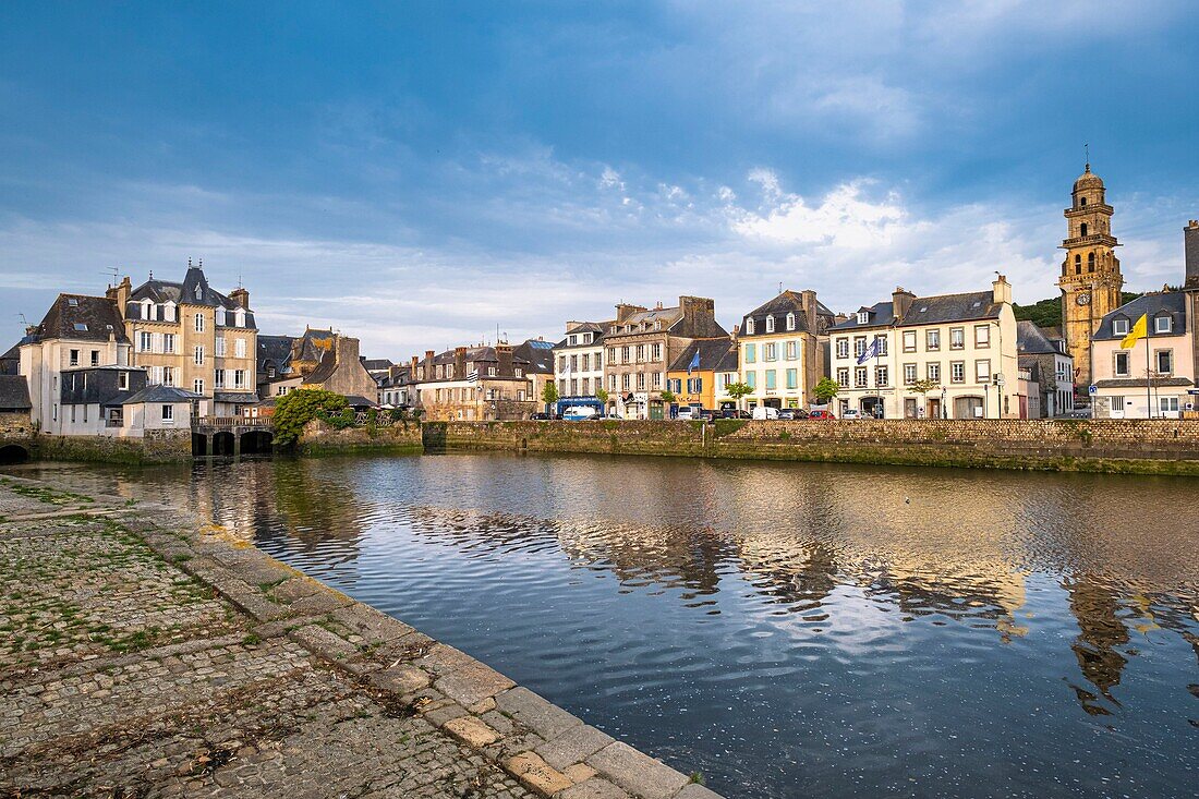
[[[713,799],[169,509],[0,477],[0,795]]]

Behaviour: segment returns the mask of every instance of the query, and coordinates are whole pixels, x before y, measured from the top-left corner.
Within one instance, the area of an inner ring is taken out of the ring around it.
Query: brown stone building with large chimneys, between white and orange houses
[[[621,304],[604,332],[604,380],[608,413],[635,419],[665,416],[662,390],[667,371],[697,338],[728,338],[716,322],[716,305],[680,296],[669,308]]]

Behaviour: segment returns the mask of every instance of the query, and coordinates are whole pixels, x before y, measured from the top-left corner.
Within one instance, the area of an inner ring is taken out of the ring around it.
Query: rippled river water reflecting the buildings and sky
[[[729,797],[1199,795],[1199,481],[568,456],[173,499]]]

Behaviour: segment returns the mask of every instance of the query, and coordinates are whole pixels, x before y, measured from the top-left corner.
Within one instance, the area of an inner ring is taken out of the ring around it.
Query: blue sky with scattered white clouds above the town
[[[1195,8],[0,6],[0,334],[118,266],[373,356],[779,283],[1052,296],[1091,145],[1128,287],[1199,216]]]

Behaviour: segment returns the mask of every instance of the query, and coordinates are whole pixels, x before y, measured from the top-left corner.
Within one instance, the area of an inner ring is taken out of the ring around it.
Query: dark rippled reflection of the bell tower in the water
[[[1120,675],[1128,662],[1116,649],[1128,643],[1128,629],[1119,615],[1122,606],[1115,593],[1091,575],[1074,575],[1066,579],[1064,587],[1070,594],[1070,609],[1078,619],[1079,636],[1070,647],[1078,659],[1078,667],[1099,696],[1119,705],[1111,689],[1120,684]],[[1072,687],[1086,713],[1092,716],[1110,715],[1098,704],[1098,696],[1080,686]]]

